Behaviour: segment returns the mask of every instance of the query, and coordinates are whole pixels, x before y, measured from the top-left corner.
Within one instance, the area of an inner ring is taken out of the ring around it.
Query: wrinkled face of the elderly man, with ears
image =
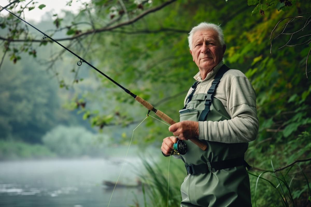
[[[214,30],[199,30],[193,34],[190,53],[199,69],[211,70],[223,58],[225,45],[221,47]]]

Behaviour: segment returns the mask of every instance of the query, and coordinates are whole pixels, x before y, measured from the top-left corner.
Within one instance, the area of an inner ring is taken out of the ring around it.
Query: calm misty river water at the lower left
[[[124,158],[123,158],[124,159]],[[0,162],[0,206],[108,206],[112,189],[104,180],[116,181],[123,164],[114,160],[40,160]],[[127,158],[119,183],[136,184],[138,158]],[[109,206],[128,206],[141,188],[116,188]]]

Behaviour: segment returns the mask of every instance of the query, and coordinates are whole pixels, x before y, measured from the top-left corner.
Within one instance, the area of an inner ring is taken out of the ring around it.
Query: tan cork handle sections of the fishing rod
[[[143,106],[145,106],[148,110],[152,110],[153,106],[148,102],[145,101],[144,99],[142,99],[139,96],[136,96],[135,98],[136,101],[138,101],[139,103],[141,103]],[[162,119],[163,121],[167,122],[168,124],[172,125],[175,124],[176,122],[170,118],[168,115],[166,115],[165,113],[163,113],[160,110],[156,110],[155,114]],[[194,144],[196,144],[198,147],[200,147],[202,150],[206,150],[207,145],[203,142],[201,142],[199,139],[197,138],[192,138],[190,139],[191,142],[193,142]]]

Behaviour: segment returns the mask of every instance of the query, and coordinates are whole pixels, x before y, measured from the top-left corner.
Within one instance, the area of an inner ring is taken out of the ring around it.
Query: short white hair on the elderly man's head
[[[211,29],[214,30],[218,34],[218,41],[220,42],[221,46],[224,46],[225,44],[224,33],[222,32],[220,25],[215,25],[214,23],[209,23],[209,22],[201,22],[197,26],[193,27],[191,31],[189,32],[188,42],[189,42],[190,50],[192,50],[193,34],[200,30],[211,30]]]

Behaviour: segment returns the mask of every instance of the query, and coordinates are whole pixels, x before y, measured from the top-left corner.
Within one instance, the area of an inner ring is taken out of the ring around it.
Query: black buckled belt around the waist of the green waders
[[[238,157],[230,160],[221,160],[216,162],[208,162],[204,164],[198,164],[198,165],[186,165],[187,173],[189,174],[199,174],[199,173],[208,173],[208,172],[215,172],[217,170],[226,169],[226,168],[233,168],[237,166],[244,165],[248,169],[250,166],[247,164],[247,162],[244,160],[244,157]]]

